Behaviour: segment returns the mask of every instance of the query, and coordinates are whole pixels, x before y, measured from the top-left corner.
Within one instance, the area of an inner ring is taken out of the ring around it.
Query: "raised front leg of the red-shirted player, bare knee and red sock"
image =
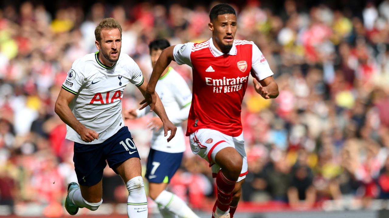
[[[226,147],[217,152],[215,162],[221,167],[216,176],[217,200],[216,213],[228,214],[236,181],[242,170],[242,156],[233,147]]]

